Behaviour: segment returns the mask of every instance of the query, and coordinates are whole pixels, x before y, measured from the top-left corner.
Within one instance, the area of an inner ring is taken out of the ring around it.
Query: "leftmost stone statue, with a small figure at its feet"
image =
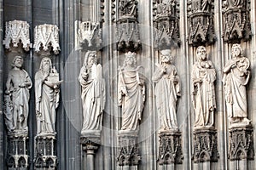
[[[9,71],[6,82],[5,123],[9,133],[27,133],[27,116],[29,88],[32,81],[25,70],[22,69],[23,59],[15,56],[13,69]]]

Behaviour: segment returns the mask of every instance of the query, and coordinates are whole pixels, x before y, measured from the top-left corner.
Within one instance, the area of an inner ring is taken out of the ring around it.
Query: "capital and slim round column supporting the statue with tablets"
[[[86,153],[86,163],[84,163],[86,167],[84,167],[84,169],[94,170],[94,155],[101,145],[100,133],[84,133],[84,135],[80,137],[80,143],[82,145],[82,149]]]

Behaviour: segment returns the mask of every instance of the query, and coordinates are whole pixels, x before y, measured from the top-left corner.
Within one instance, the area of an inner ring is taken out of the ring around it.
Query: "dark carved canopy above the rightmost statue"
[[[252,37],[250,24],[250,1],[223,1],[224,41],[247,41]]]

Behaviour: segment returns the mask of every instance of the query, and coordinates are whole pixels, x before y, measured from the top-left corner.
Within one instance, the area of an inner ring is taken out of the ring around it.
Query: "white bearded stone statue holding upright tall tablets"
[[[79,82],[82,87],[83,127],[82,134],[102,130],[102,112],[105,106],[105,80],[102,65],[96,64],[96,51],[88,51],[80,70]]]

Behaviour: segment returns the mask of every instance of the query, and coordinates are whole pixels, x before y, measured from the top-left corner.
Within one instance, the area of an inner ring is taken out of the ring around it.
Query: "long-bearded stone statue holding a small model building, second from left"
[[[35,75],[38,135],[55,134],[55,109],[59,105],[61,82],[49,57],[44,57]]]

